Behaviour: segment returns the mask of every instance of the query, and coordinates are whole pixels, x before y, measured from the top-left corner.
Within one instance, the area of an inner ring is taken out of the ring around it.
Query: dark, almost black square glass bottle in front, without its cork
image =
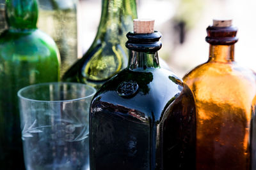
[[[127,38],[128,67],[104,83],[91,104],[90,168],[195,169],[191,90],[159,67],[159,32]]]

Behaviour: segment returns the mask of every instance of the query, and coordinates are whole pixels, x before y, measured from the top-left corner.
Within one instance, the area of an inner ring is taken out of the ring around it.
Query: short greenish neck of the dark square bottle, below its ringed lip
[[[158,68],[158,53],[136,52],[129,50],[128,68],[132,71],[145,71],[147,69]]]

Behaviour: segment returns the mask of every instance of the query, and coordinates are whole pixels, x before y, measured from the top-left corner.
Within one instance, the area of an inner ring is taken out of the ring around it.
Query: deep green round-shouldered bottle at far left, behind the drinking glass
[[[0,36],[0,167],[24,169],[17,92],[27,85],[60,80],[54,41],[36,29],[36,0],[7,0],[8,29]]]

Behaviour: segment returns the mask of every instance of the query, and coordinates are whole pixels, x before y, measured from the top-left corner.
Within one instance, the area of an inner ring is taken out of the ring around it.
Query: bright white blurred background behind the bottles
[[[212,18],[232,18],[239,29],[235,59],[256,71],[255,0],[138,0],[138,17],[154,18],[163,34],[159,56],[180,78],[206,62],[209,44],[206,28]],[[78,42],[84,53],[92,44],[101,14],[101,0],[81,0],[77,5]]]

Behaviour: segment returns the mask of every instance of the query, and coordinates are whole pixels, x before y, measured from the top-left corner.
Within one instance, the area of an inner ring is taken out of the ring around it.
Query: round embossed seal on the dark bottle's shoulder
[[[139,85],[136,81],[123,81],[117,87],[117,93],[119,96],[130,97],[134,95],[139,89]]]

